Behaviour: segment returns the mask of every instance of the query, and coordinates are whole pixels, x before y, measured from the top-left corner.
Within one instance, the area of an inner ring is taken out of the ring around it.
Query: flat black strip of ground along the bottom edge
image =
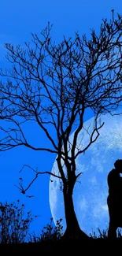
[[[1,244],[0,255],[46,255],[48,254],[121,254],[122,239],[90,239],[90,240],[68,240],[68,241],[44,241],[39,243]]]

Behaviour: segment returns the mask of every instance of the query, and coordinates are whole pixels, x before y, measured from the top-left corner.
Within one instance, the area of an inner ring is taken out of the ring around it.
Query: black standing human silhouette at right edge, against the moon
[[[122,228],[122,159],[114,163],[115,169],[108,174],[109,196],[107,204],[109,208],[108,238],[116,238],[116,229]]]

